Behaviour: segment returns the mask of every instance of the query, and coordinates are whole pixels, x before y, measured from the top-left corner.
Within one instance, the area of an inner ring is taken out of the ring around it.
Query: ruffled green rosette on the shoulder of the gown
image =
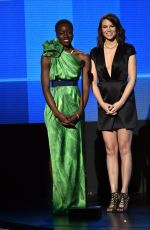
[[[63,51],[63,46],[56,39],[43,43],[43,56],[58,58]]]

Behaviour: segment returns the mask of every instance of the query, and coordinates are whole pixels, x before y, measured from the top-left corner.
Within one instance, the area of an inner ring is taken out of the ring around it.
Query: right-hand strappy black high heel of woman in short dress
[[[125,212],[125,211],[127,211],[128,203],[129,203],[129,195],[128,195],[128,193],[120,193],[117,212]]]

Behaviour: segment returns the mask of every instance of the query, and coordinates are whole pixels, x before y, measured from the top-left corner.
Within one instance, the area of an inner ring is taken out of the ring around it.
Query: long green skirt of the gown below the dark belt
[[[77,86],[53,87],[51,93],[60,112],[67,115],[77,112],[80,103]],[[47,105],[44,118],[52,163],[53,213],[85,207],[83,123],[80,120],[75,127],[64,127]]]

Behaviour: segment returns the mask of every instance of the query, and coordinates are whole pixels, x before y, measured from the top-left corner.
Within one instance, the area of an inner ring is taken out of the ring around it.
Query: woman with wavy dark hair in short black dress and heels
[[[127,209],[132,171],[131,141],[137,112],[135,48],[125,43],[125,30],[114,14],[104,15],[98,27],[98,46],[91,50],[93,93],[98,101],[98,128],[102,131],[111,188],[108,212]],[[118,193],[118,152],[122,188]]]

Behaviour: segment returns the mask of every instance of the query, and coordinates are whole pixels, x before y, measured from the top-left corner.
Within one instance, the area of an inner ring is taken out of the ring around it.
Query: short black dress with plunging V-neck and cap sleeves
[[[133,45],[119,44],[114,55],[110,76],[106,68],[104,49],[95,47],[91,50],[91,59],[94,61],[97,70],[98,86],[105,102],[113,104],[121,98],[128,81],[128,60],[135,53]],[[136,123],[137,111],[134,90],[117,115],[107,115],[101,107],[98,108],[99,130],[133,129]]]

